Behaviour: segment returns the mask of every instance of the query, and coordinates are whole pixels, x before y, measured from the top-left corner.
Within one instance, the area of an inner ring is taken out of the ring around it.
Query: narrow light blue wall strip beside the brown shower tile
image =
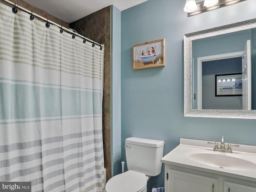
[[[121,11],[111,6],[111,14],[111,173],[113,176],[121,172]]]

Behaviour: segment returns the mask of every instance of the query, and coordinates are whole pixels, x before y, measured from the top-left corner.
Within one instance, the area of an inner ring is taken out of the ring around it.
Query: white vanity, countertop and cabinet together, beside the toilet
[[[207,141],[180,138],[161,162],[165,192],[256,192],[256,146],[225,153]]]

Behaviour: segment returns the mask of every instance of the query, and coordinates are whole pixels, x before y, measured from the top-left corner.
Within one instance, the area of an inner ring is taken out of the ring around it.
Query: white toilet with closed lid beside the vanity
[[[125,147],[128,171],[112,177],[105,192],[146,192],[148,179],[161,172],[164,141],[130,137]]]

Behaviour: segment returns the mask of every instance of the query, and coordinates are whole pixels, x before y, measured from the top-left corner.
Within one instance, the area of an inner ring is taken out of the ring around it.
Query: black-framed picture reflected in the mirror
[[[215,75],[215,96],[242,96],[242,73]]]

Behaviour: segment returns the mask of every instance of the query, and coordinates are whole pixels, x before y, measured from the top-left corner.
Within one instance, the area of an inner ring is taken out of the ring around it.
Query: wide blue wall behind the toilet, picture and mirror
[[[122,140],[130,136],[164,140],[164,154],[180,138],[256,145],[256,120],[184,117],[183,35],[256,17],[256,1],[246,0],[187,17],[185,0],[148,0],[121,14]],[[166,66],[132,70],[132,46],[165,38]],[[122,147],[122,160],[125,151]],[[150,178],[164,186],[164,169]]]

